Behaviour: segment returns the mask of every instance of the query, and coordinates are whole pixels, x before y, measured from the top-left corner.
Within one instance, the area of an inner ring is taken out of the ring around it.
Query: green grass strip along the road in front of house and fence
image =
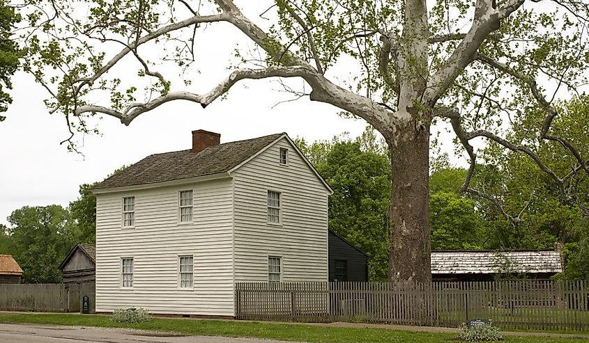
[[[300,324],[254,323],[200,319],[154,318],[142,324],[117,324],[108,316],[83,314],[0,314],[0,322],[137,328],[187,335],[257,337],[274,340],[355,343],[355,342],[456,342],[454,333],[413,333],[380,328],[333,328]],[[583,338],[507,337],[514,343],[589,342]]]

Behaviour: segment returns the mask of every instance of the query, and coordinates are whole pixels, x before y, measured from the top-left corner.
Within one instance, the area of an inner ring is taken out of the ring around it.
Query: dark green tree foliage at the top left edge
[[[6,90],[13,88],[10,77],[16,72],[22,56],[13,39],[14,25],[20,19],[14,7],[8,6],[6,0],[0,0],[0,113],[6,112],[8,104],[13,102]],[[0,115],[0,122],[5,119],[5,116]]]

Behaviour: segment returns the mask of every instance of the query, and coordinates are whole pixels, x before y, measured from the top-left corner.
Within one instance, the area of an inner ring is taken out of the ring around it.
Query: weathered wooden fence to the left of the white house
[[[89,296],[90,313],[94,313],[94,283],[0,284],[0,310],[81,312],[84,295]]]

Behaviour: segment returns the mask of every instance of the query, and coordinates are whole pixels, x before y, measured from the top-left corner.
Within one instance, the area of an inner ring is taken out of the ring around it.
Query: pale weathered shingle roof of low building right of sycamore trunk
[[[507,262],[508,261],[508,262]],[[558,251],[451,251],[431,253],[432,274],[560,273]]]

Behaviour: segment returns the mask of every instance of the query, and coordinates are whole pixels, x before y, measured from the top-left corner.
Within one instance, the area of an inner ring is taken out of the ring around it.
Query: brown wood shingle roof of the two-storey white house
[[[272,134],[192,150],[152,154],[93,186],[93,189],[154,184],[224,173],[246,161],[282,134]]]

